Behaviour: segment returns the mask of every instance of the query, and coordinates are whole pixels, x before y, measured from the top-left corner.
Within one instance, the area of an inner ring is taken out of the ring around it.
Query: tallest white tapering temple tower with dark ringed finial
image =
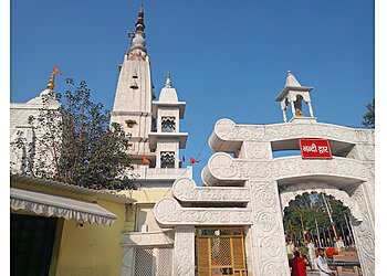
[[[149,149],[151,130],[151,100],[154,98],[150,61],[145,42],[144,9],[140,8],[134,34],[129,33],[132,47],[119,65],[119,77],[111,121],[118,123],[130,135],[129,152],[133,164],[146,157],[155,163],[155,152]]]

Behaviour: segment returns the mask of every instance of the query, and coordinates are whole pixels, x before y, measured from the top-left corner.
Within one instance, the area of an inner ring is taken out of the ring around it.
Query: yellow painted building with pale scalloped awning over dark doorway
[[[13,275],[25,269],[49,269],[49,275],[59,276],[121,275],[121,233],[133,203],[107,192],[11,176]],[[44,263],[43,258],[49,264],[35,264]]]

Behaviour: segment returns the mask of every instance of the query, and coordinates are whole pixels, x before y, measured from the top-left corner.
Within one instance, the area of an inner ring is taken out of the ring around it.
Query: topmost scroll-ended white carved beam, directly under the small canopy
[[[355,129],[331,124],[274,124],[237,125],[230,119],[220,119],[209,138],[215,151],[236,151],[242,141],[280,141],[289,139],[324,138],[348,144],[374,144],[375,131]]]

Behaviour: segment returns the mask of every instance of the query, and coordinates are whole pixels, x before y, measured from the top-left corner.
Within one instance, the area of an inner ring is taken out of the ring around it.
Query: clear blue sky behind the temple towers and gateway
[[[84,79],[95,102],[112,109],[118,64],[129,46],[140,1],[12,0],[11,102],[45,88],[59,76]],[[374,98],[374,1],[245,0],[146,1],[145,24],[156,95],[168,70],[187,103],[181,130],[195,179],[211,156],[215,123],[282,123],[279,103],[286,71],[315,87],[317,121],[362,127]],[[203,150],[201,151],[201,149]]]

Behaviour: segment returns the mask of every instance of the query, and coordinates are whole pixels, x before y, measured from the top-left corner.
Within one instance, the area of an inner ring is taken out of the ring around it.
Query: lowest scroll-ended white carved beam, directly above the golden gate
[[[181,208],[172,198],[159,200],[155,219],[163,226],[175,225],[249,225],[251,210],[242,208]]]

